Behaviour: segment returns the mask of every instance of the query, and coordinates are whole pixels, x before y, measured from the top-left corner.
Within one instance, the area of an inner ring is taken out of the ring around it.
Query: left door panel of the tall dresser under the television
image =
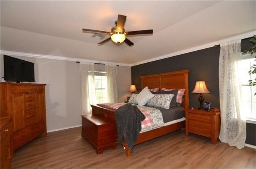
[[[12,120],[13,131],[25,127],[24,119],[24,94],[12,94]]]

